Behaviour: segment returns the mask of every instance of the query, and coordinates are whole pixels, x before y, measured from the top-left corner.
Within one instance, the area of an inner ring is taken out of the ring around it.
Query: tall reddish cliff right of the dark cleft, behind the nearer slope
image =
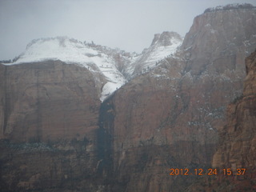
[[[106,101],[123,190],[182,190],[193,177],[168,177],[170,168],[210,166],[226,105],[242,93],[244,58],[256,46],[255,14],[233,7],[199,15],[174,57]]]

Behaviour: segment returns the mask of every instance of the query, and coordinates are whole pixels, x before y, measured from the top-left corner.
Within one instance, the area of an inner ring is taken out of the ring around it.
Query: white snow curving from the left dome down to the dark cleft
[[[100,98],[102,102],[126,82],[126,79],[115,66],[113,58],[94,49],[93,45],[89,46],[89,44],[66,37],[34,40],[30,42],[26,51],[20,55],[16,62],[8,65],[46,60],[61,60],[67,64],[84,66],[92,73],[102,73],[106,78],[106,84],[102,88]]]

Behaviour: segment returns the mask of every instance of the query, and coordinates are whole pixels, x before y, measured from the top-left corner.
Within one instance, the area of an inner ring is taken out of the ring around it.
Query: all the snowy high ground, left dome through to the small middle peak
[[[80,42],[74,38],[40,38],[30,42],[15,62],[6,65],[60,60],[66,64],[86,67],[94,74],[95,82],[100,81],[98,75],[106,80],[101,82],[105,83],[102,85],[100,97],[103,102],[115,90],[134,77],[134,74],[142,73],[146,67],[155,67],[155,62],[175,53],[182,43],[182,38],[174,32],[163,32],[162,34],[155,34],[151,46],[142,54],[98,46],[93,42]]]

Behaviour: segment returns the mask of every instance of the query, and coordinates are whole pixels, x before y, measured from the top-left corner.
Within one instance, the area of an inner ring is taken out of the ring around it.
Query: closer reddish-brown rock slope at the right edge
[[[256,52],[246,58],[243,93],[226,110],[226,125],[219,131],[214,176],[203,176],[186,191],[255,191]]]

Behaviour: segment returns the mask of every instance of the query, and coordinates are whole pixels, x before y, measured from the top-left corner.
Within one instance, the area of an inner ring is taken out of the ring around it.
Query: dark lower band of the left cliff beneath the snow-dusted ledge
[[[95,139],[86,138],[59,143],[1,141],[1,191],[102,191],[98,150],[91,142]]]

